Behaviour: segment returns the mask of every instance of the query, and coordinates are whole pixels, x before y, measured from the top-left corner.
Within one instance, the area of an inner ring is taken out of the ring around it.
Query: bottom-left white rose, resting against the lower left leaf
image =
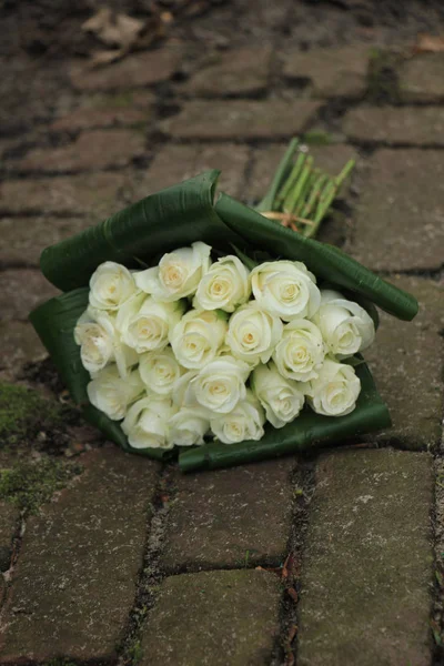
[[[122,423],[122,431],[133,448],[172,448],[170,421],[176,408],[171,400],[142,397],[132,405]]]

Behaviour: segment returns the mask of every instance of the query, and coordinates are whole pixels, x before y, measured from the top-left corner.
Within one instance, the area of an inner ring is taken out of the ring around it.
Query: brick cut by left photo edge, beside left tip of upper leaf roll
[[[0,273],[0,321],[27,320],[31,310],[60,292],[32,269]]]

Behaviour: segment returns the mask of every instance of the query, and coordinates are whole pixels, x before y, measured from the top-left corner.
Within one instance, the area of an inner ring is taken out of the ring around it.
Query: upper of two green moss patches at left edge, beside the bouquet
[[[37,392],[0,383],[0,441],[17,442],[48,427],[61,427],[67,407],[42,398]]]

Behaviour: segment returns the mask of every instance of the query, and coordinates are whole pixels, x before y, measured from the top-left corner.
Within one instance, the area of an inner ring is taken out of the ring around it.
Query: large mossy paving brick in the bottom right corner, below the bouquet
[[[316,478],[297,664],[428,666],[431,456],[344,451],[323,457]]]

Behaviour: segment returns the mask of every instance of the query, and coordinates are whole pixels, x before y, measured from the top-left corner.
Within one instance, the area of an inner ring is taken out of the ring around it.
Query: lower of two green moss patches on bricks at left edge
[[[57,491],[81,472],[80,465],[46,457],[19,462],[0,473],[0,498],[27,513],[36,513]]]

